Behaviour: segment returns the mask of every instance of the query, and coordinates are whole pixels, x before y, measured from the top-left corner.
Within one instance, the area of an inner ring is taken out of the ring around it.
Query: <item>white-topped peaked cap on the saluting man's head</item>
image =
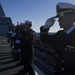
[[[65,3],[65,2],[59,2],[57,5],[56,5],[56,12],[57,12],[57,15],[60,13],[60,12],[75,12],[75,5],[74,4],[70,4],[70,3]],[[58,17],[58,16],[55,16],[55,17]]]

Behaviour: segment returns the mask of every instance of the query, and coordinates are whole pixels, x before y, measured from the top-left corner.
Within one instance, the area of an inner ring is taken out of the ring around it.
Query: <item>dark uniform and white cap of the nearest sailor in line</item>
[[[31,21],[25,21],[26,25],[31,25]],[[34,48],[33,48],[33,39],[34,39],[35,31],[30,29],[24,29],[20,31],[20,40],[21,40],[21,62],[23,63],[24,67],[20,71],[24,74],[27,72],[30,75],[35,75],[35,71],[33,68],[33,55],[34,55]]]

